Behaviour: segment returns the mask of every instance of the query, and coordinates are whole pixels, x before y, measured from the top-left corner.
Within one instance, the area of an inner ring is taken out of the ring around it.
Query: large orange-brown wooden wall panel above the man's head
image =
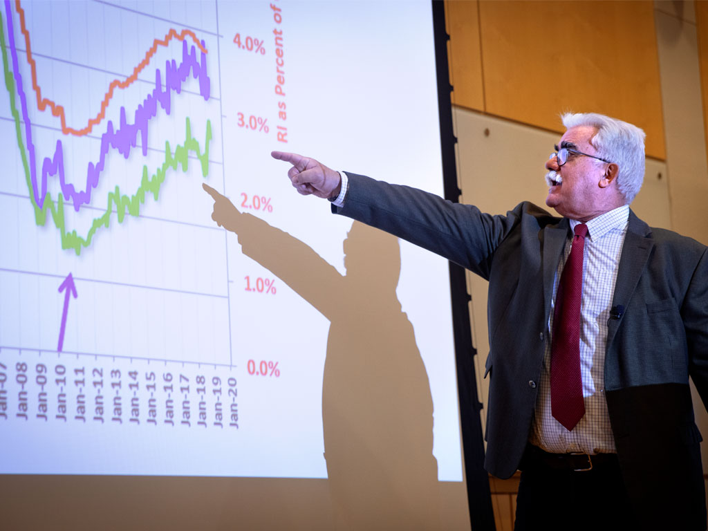
[[[604,113],[666,158],[650,1],[481,1],[479,26],[486,113],[559,132],[565,110]]]

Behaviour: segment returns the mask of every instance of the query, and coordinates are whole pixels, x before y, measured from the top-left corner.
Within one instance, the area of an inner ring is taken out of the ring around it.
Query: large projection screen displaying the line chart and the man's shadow
[[[469,528],[447,261],[270,158],[442,195],[430,3],[0,11],[0,526]]]

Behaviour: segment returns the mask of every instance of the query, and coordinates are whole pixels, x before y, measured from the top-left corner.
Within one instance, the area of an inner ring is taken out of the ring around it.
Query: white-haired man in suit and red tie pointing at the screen
[[[644,132],[564,115],[546,203],[506,216],[338,173],[297,154],[299,193],[489,280],[485,467],[522,469],[517,529],[706,527],[700,433],[708,394],[708,253],[629,203]],[[219,221],[215,211],[215,219]]]

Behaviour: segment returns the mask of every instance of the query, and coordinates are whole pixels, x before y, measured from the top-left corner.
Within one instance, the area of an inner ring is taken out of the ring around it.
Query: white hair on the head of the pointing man
[[[617,188],[629,205],[644,181],[644,131],[631,123],[597,113],[565,113],[561,120],[566,129],[579,125],[598,128],[590,144],[598,156],[619,166]]]

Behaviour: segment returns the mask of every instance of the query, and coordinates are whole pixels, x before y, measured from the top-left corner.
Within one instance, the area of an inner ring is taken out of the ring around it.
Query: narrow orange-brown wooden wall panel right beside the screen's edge
[[[477,0],[445,1],[445,21],[450,34],[448,52],[452,103],[468,109],[484,110],[479,17]]]

